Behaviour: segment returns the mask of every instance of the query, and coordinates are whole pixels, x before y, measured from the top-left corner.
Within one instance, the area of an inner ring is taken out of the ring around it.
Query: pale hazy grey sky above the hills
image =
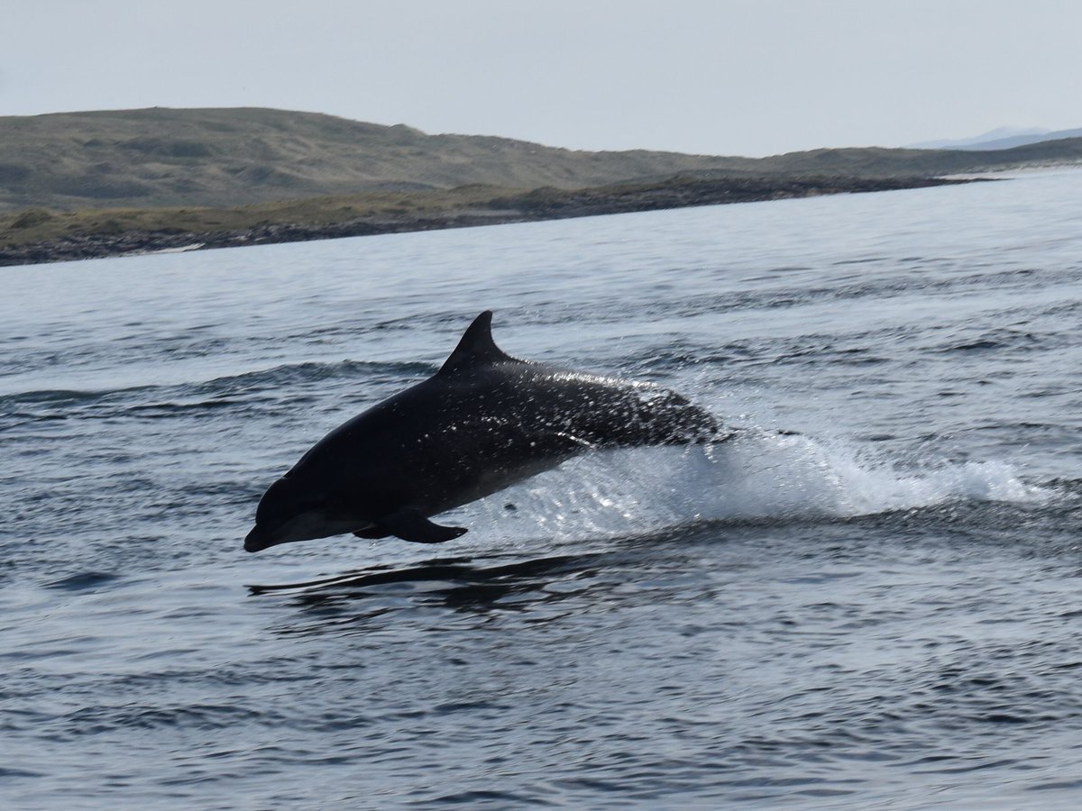
[[[1082,127],[1078,0],[2,0],[0,115],[266,106],[769,155]]]

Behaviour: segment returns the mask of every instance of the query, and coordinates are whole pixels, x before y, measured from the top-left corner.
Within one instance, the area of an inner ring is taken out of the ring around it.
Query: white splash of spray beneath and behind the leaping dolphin
[[[546,534],[576,537],[694,521],[845,519],[955,501],[1048,497],[1002,462],[901,469],[806,436],[748,433],[717,446],[582,456],[467,510],[483,510],[496,527],[517,521],[520,532],[525,520]],[[484,517],[471,517],[477,519]]]

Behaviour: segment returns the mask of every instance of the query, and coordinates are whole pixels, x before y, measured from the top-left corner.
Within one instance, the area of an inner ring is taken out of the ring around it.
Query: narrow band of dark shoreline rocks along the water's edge
[[[892,191],[972,183],[974,180],[836,176],[725,177],[675,178],[660,183],[572,191],[541,188],[520,195],[497,197],[481,205],[417,214],[380,213],[331,224],[263,223],[239,230],[177,232],[176,229],[163,229],[65,236],[27,244],[6,244],[0,248],[0,266],[539,222],[819,195]]]

